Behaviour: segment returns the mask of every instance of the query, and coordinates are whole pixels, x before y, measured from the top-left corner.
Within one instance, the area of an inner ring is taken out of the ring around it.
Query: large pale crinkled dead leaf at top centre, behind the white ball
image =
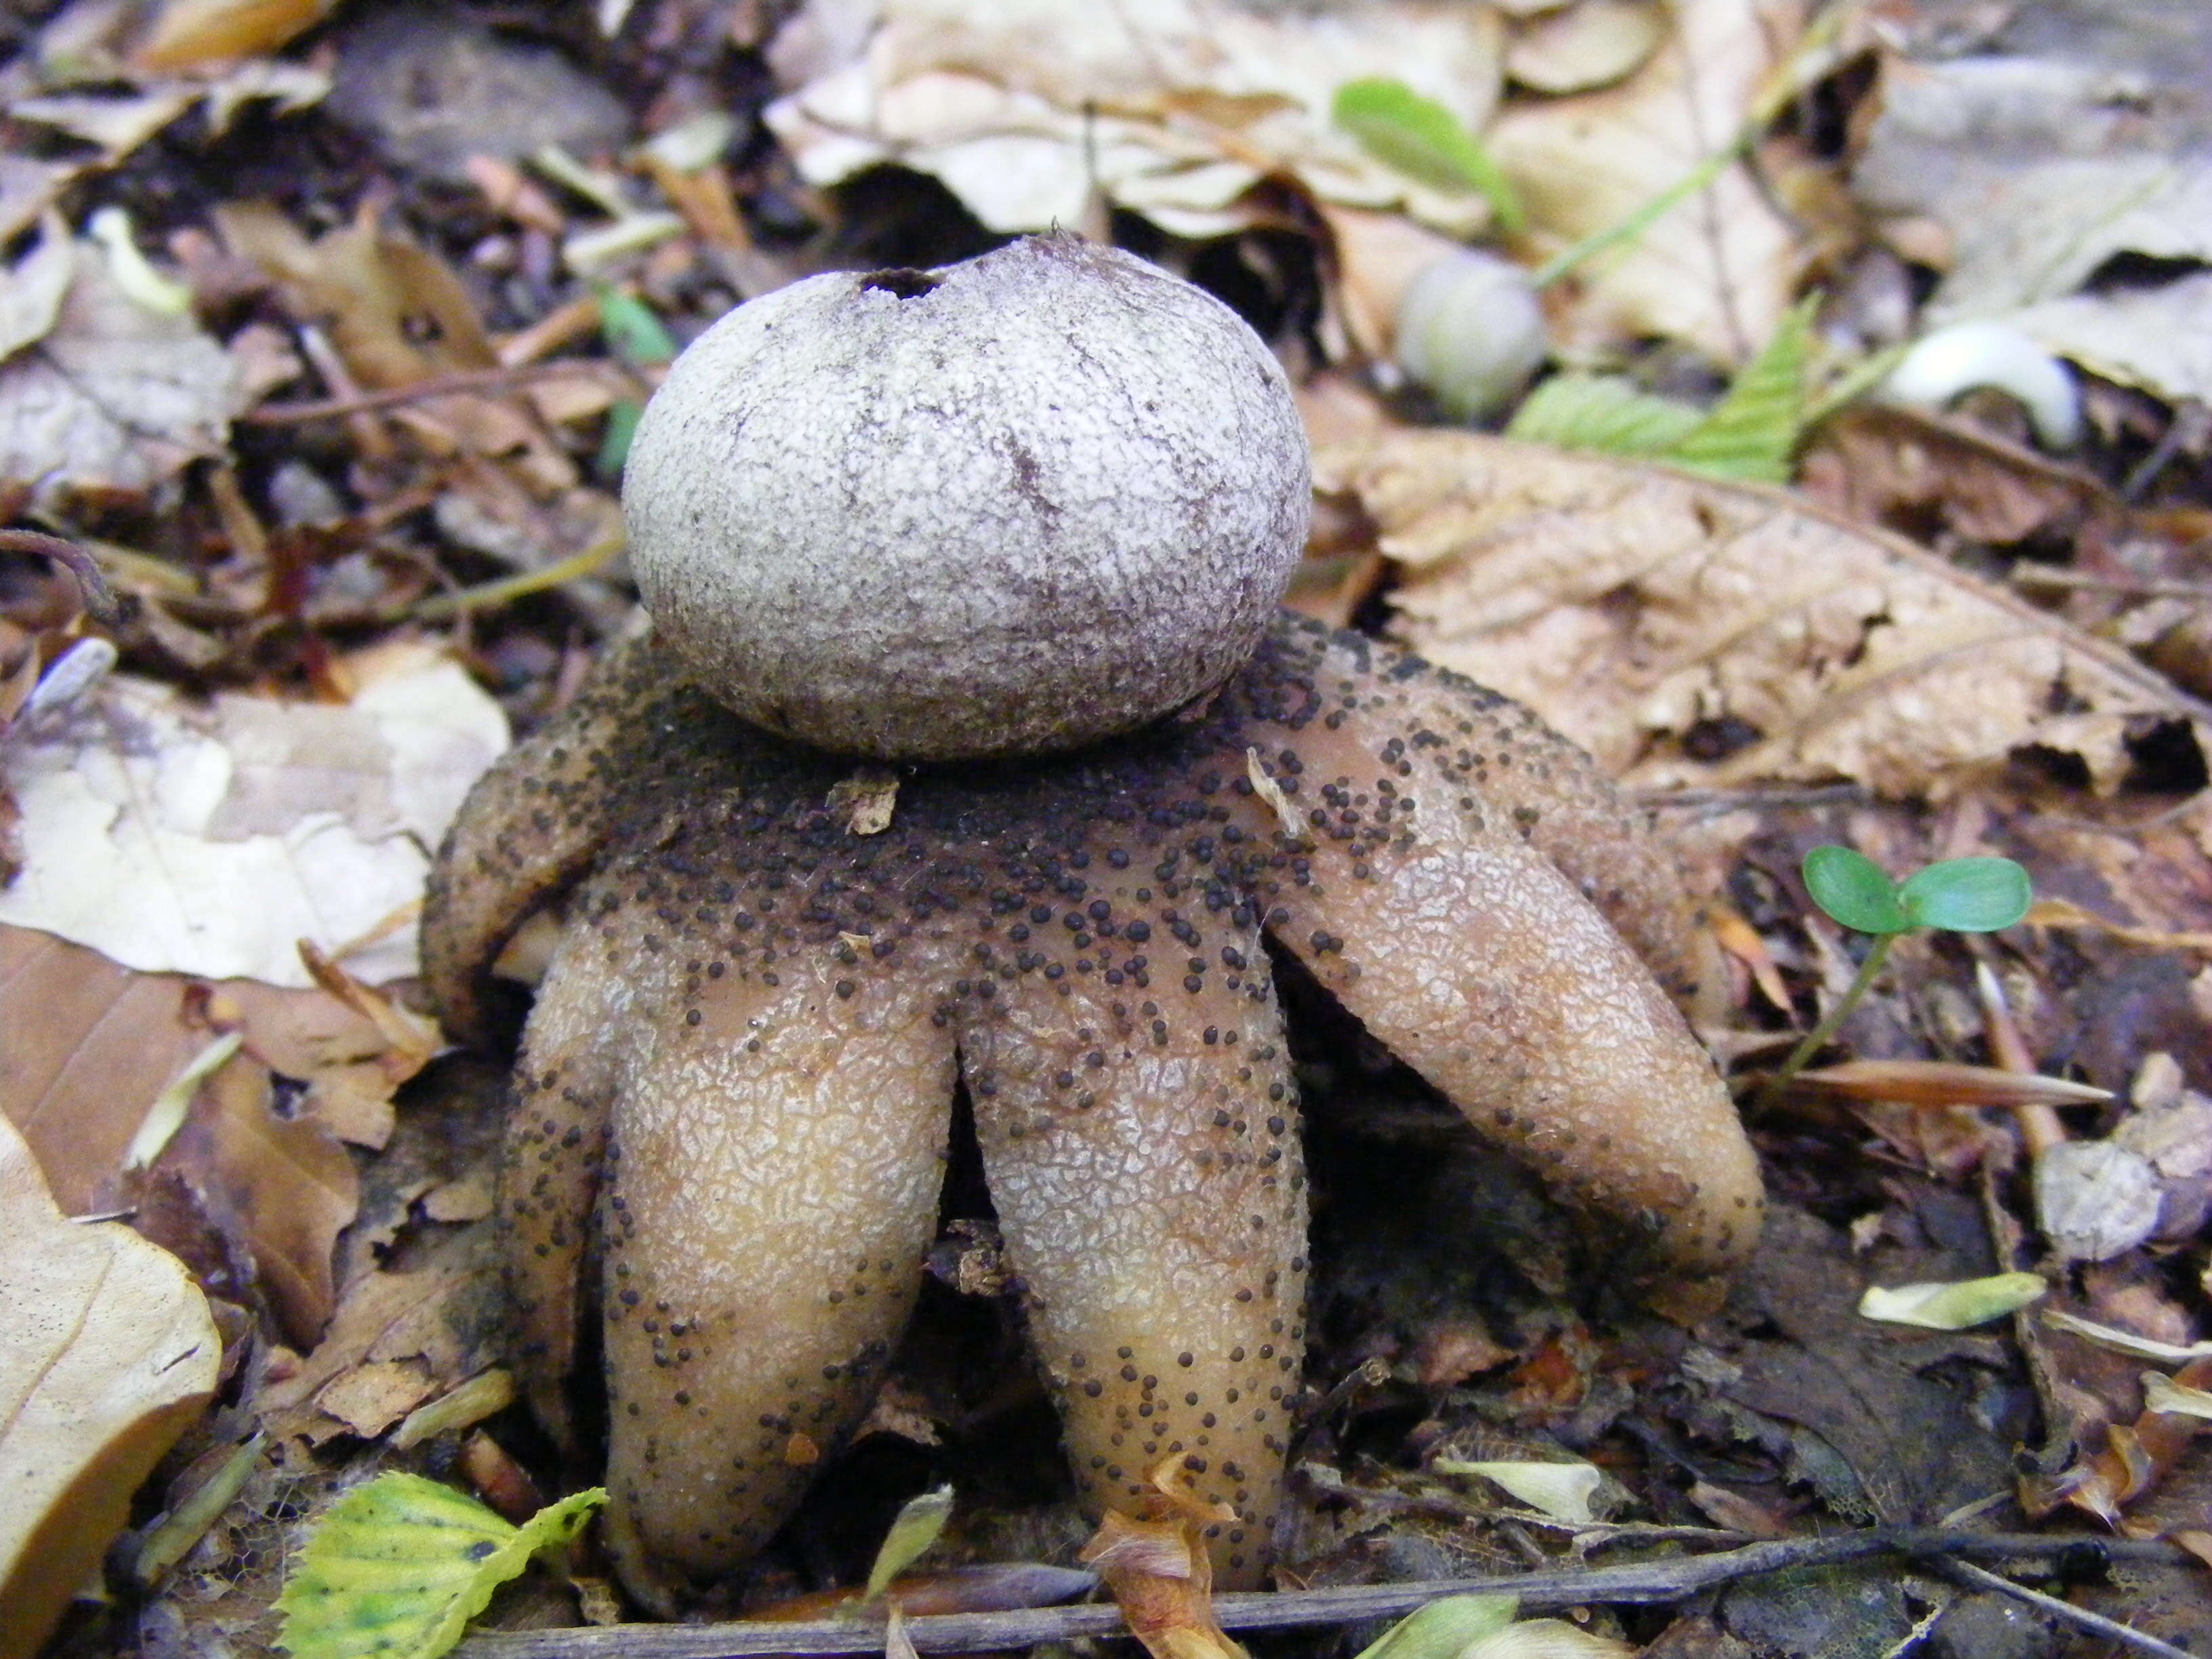
[[[814,18],[776,40],[796,93],[768,124],[812,184],[880,161],[940,177],[993,230],[1088,221],[1093,190],[1190,237],[1237,230],[1267,173],[1464,234],[1484,201],[1378,161],[1334,126],[1336,88],[1394,77],[1480,133],[1500,88],[1486,7],[1349,13],[1221,0],[891,0],[838,53]]]

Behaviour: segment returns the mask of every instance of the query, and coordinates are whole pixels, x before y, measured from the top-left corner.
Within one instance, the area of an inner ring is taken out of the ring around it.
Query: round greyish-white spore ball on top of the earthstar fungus
[[[812,276],[723,316],[639,420],[655,630],[827,750],[1068,750],[1256,648],[1312,511],[1281,365],[1190,283],[1075,237]]]

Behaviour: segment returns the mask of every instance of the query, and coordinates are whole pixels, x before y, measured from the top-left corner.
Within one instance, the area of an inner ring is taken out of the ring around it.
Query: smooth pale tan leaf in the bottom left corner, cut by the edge
[[[184,1265],[62,1217],[0,1124],[0,1659],[29,1659],[215,1391],[221,1343]]]

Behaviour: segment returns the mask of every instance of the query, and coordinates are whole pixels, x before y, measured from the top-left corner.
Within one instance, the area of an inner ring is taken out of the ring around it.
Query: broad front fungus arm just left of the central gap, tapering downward
[[[675,1613],[874,1394],[936,1232],[953,1044],[925,982],[827,951],[608,967],[641,982],[602,1212],[608,1540]]]

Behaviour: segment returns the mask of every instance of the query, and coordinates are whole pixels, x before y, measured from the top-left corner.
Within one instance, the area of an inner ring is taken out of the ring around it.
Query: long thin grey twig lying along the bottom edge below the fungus
[[[1214,1597],[1223,1630],[1292,1630],[1321,1624],[1394,1619],[1444,1595],[1513,1595],[1524,1610],[1571,1608],[1597,1601],[1677,1601],[1717,1584],[1801,1566],[1836,1566],[1871,1555],[1960,1557],[2013,1562],[2057,1555],[2077,1535],[1971,1533],[1942,1526],[1867,1528],[1834,1537],[1787,1537],[1717,1555],[1637,1562],[1557,1573],[1511,1573],[1425,1584],[1360,1584],[1279,1595]],[[2188,1562],[2174,1544],[2097,1540],[2115,1557]],[[1037,1641],[1126,1635],[1121,1610],[1110,1606],[1022,1608],[1015,1613],[945,1613],[907,1621],[918,1652],[995,1652]],[[805,1624],[615,1624],[573,1630],[502,1630],[471,1637],[460,1659],[754,1659],[757,1655],[883,1652],[883,1624],[869,1619],[810,1619]]]

